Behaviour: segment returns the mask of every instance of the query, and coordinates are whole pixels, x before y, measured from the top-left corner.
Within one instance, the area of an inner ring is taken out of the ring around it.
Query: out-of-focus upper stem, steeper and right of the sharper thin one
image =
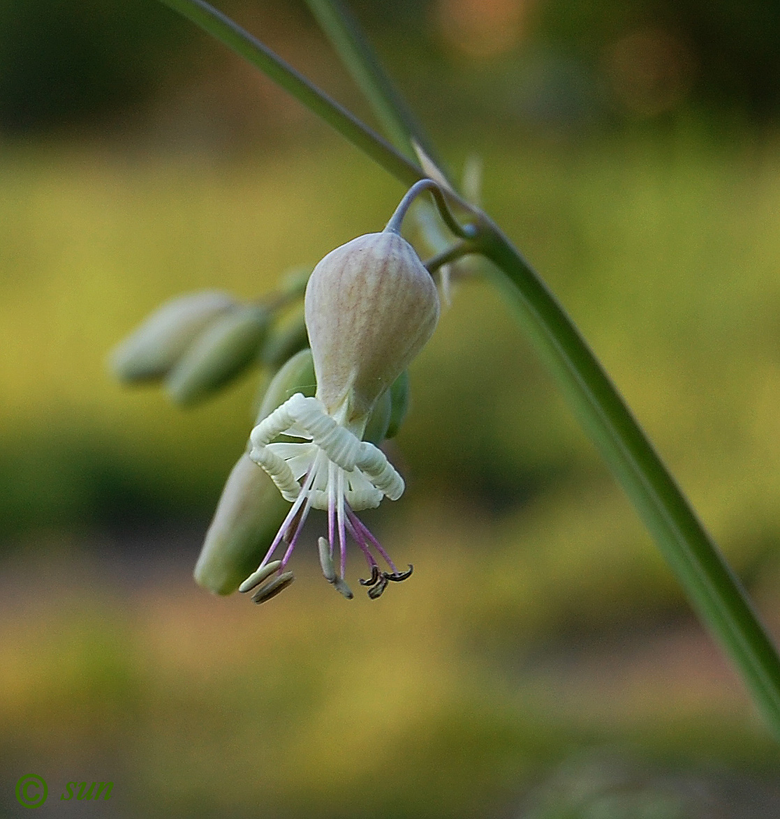
[[[306,0],[317,23],[331,41],[344,67],[363,92],[390,139],[408,156],[415,156],[414,138],[441,167],[422,125],[386,74],[358,20],[341,0]]]

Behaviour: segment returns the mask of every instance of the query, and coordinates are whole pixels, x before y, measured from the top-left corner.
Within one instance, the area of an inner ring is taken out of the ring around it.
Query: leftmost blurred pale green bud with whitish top
[[[235,305],[216,290],[167,301],[148,316],[111,354],[111,369],[123,382],[162,378],[214,319]]]

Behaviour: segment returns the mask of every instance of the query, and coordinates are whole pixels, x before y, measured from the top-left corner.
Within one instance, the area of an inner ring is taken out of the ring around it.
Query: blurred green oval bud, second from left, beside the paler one
[[[216,319],[166,379],[168,395],[180,405],[196,404],[257,359],[268,328],[267,310],[242,305]]]

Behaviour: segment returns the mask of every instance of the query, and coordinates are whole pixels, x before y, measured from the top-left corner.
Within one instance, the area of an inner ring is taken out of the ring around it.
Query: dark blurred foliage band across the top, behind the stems
[[[217,5],[365,113],[302,2]],[[568,129],[691,106],[764,120],[780,110],[773,0],[359,0],[354,7],[415,107],[440,128],[456,112],[461,127],[509,118]],[[171,116],[203,127],[217,112],[230,130],[247,106],[271,110],[266,93],[241,99],[237,85],[246,91],[253,81],[237,58],[156,0],[2,0],[0,19],[6,133],[139,122],[159,129],[171,127]],[[239,132],[256,140],[262,118]]]

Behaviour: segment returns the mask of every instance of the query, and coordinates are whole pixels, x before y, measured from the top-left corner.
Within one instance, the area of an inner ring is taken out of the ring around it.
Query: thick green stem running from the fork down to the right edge
[[[780,740],[780,658],[739,579],[545,283],[495,224],[481,229],[477,250],[504,274],[499,287],[537,353]]]

